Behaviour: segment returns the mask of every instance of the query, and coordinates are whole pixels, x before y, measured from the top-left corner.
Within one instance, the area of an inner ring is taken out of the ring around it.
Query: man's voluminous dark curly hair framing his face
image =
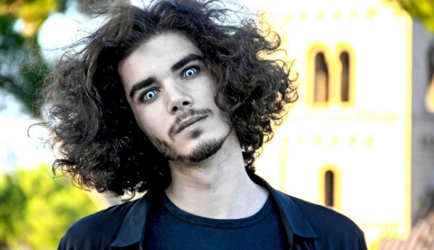
[[[214,101],[229,114],[246,170],[254,172],[272,122],[279,124],[286,104],[298,98],[290,65],[267,59],[279,49],[279,35],[215,0],[163,0],[146,8],[118,3],[104,14],[107,21],[80,41],[84,49],[65,53],[45,81],[43,124],[60,152],[54,174],[117,196],[170,184],[167,159],[136,124],[118,74],[120,61],[163,32],[182,33],[203,52],[217,84]]]

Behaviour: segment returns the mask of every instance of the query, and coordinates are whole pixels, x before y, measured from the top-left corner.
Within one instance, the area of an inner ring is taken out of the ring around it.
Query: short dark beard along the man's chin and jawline
[[[150,140],[158,149],[158,151],[160,151],[160,153],[163,154],[168,160],[188,164],[206,160],[217,151],[219,151],[231,131],[232,129],[229,130],[226,136],[199,142],[199,144],[194,149],[192,149],[188,155],[179,154],[175,151],[173,147],[168,145],[167,142],[160,140],[159,138],[153,137],[150,138]]]

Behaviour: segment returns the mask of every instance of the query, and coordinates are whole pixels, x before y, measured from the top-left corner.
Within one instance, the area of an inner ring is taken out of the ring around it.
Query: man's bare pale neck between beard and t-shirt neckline
[[[232,131],[222,148],[197,164],[169,162],[172,183],[168,198],[191,214],[235,219],[258,212],[268,191],[247,175],[238,137]]]

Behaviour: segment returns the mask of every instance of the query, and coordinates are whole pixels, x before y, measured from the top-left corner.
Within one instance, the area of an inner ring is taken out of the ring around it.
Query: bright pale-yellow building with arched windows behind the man
[[[300,99],[257,173],[347,215],[371,249],[407,238],[434,189],[433,36],[393,1],[269,6]]]

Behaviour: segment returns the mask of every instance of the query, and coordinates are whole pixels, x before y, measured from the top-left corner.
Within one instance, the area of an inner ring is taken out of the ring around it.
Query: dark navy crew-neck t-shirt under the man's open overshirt
[[[187,213],[165,195],[152,204],[144,249],[288,249],[278,209],[268,197],[256,214],[212,219]]]

